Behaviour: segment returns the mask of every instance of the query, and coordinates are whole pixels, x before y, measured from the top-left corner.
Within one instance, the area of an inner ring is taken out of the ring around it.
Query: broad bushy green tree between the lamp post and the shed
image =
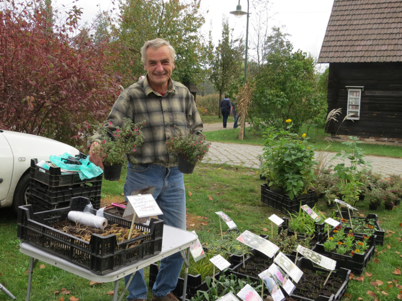
[[[267,63],[256,77],[249,116],[254,123],[282,128],[291,119],[294,130],[314,118],[322,105],[317,97],[314,58],[293,46],[279,28],[269,37]]]

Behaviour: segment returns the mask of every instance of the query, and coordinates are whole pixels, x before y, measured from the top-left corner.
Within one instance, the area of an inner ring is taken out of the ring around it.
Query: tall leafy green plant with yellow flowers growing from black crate
[[[309,192],[316,180],[314,166],[317,162],[306,134],[293,133],[290,119],[286,124],[285,130],[269,127],[264,132],[260,171],[270,188],[282,188],[292,200]]]

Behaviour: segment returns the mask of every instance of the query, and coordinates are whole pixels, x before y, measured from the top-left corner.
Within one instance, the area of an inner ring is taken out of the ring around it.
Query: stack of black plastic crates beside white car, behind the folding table
[[[102,174],[92,179],[81,180],[78,172],[64,174],[59,167],[49,170],[37,166],[38,160],[31,160],[31,182],[28,203],[34,212],[68,207],[73,197],[85,197],[94,209],[100,207]]]

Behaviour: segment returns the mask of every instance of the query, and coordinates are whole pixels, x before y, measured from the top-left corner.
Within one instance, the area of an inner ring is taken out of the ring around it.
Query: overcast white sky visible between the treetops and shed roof
[[[204,31],[208,33],[212,22],[215,44],[221,38],[223,16],[228,17],[229,26],[236,29],[236,35],[245,37],[246,16],[236,18],[229,14],[230,11],[236,10],[238,3],[238,0],[201,0],[200,10],[202,12],[209,10],[206,14]],[[269,28],[283,26],[282,32],[290,35],[289,40],[294,50],[301,49],[318,58],[333,3],[334,0],[270,0]],[[112,0],[76,0],[74,3],[73,0],[53,0],[54,8],[62,8],[61,4],[66,7],[76,5],[82,8],[82,21],[88,22],[92,21],[99,10],[106,11],[113,8]],[[240,0],[240,5],[243,11],[247,11],[247,0]],[[251,22],[253,16],[256,16],[253,0],[250,0],[249,11],[249,39],[251,39]],[[206,36],[208,37],[208,34]]]

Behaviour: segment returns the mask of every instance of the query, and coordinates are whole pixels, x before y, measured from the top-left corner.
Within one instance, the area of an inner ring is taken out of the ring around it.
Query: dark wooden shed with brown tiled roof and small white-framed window
[[[318,63],[328,112],[342,109],[327,133],[402,143],[401,0],[334,0]]]

